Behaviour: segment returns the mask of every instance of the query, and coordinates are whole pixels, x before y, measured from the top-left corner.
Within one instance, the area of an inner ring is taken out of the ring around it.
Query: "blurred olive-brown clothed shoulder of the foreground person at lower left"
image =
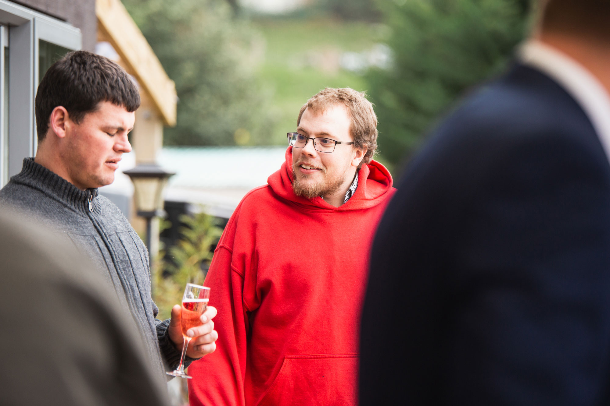
[[[168,405],[128,310],[71,245],[0,212],[0,403]]]

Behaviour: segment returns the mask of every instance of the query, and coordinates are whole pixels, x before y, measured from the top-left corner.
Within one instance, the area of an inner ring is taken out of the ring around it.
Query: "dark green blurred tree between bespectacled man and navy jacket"
[[[501,69],[522,40],[528,0],[379,1],[392,29],[391,71],[371,71],[379,151],[397,163],[465,90]]]

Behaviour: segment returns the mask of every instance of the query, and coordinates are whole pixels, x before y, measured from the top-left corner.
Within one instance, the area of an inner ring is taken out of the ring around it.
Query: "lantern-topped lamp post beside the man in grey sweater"
[[[148,248],[148,259],[152,269],[152,219],[154,217],[165,217],[163,189],[167,185],[167,180],[174,173],[164,171],[156,164],[138,164],[135,168],[123,171],[123,173],[129,176],[134,183],[137,215],[146,219],[146,247]]]

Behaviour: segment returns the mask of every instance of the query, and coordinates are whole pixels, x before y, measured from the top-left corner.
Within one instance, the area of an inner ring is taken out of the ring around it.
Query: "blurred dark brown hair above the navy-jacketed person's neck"
[[[548,0],[542,11],[542,30],[608,40],[610,1]]]

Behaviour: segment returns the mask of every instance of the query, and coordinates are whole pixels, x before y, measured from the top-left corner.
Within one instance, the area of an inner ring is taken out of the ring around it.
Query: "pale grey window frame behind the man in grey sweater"
[[[82,48],[82,35],[80,29],[68,23],[6,0],[0,0],[0,24],[9,31],[9,134],[3,134],[0,125],[0,142],[8,137],[10,177],[20,173],[23,158],[36,153],[34,99],[38,86],[39,41],[77,50]],[[0,63],[3,62],[2,57]],[[4,102],[4,92],[0,91],[2,110]],[[1,173],[5,166],[1,160],[0,156],[0,187],[8,178]]]

